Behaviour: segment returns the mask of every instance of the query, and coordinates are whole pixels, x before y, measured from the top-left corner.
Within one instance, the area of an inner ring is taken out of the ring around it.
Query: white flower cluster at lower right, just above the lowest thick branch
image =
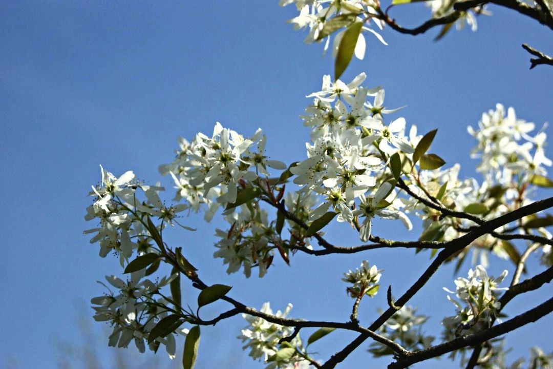
[[[487,328],[494,321],[498,309],[501,308],[497,301],[497,291],[508,289],[499,288],[498,285],[506,276],[505,270],[498,278],[488,277],[486,269],[478,265],[474,270],[468,271],[468,278],[455,280],[455,292],[444,288],[447,292],[456,294],[462,302],[447,296],[457,311],[455,316],[442,321],[445,340],[455,339],[466,331],[470,333]]]

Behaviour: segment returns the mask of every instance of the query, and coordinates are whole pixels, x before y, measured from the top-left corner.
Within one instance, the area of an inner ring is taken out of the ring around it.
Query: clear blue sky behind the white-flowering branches
[[[304,158],[309,132],[299,115],[310,103],[305,95],[320,89],[324,74],[332,74],[333,60],[321,56],[322,45],[303,43],[305,33],[286,23],[296,14],[294,7],[279,8],[276,1],[6,1],[1,7],[0,276],[7,297],[0,303],[6,337],[0,366],[54,368],[60,355],[55,342],[80,345],[79,306],[103,293],[96,280],[118,271],[117,261],[99,258],[98,247],[82,235],[94,226],[86,224],[84,214],[90,185],[100,180],[98,165],[115,175],[133,170],[150,183],[160,180],[170,198],[172,183],[161,178],[158,165],[173,159],[178,136],[211,133],[216,121],[246,135],[263,128],[267,152],[275,159]],[[468,152],[475,142],[466,127],[476,126],[482,112],[502,102],[538,126],[551,121],[553,113],[553,68],[528,70],[529,54],[520,47],[529,43],[551,53],[550,34],[519,14],[490,10],[493,17],[478,19],[478,32],[452,31],[438,43],[433,41],[437,30],[411,37],[387,29],[382,35],[389,46],[368,35],[365,60],[354,60],[342,78],[366,72],[364,85],[384,86],[387,106],[407,106],[401,116],[408,124],[421,132],[439,128],[433,151],[448,164],[461,163],[462,176],[474,175],[476,163]],[[392,14],[416,25],[428,11],[415,4]],[[340,279],[363,259],[385,269],[382,283],[393,284],[398,294],[429,264],[428,255],[414,257],[405,250],[296,255],[291,267],[278,263],[263,279],[228,277],[221,261],[212,258],[211,235],[220,223],[205,225],[193,215],[185,222],[198,231],[171,237],[205,271],[207,283],[232,285],[233,297],[257,308],[267,300],[274,309],[291,302],[297,318],[346,320],[352,302]],[[377,226],[385,237],[418,237],[403,232],[400,224]],[[335,240],[358,243],[355,235],[346,235],[347,227],[332,229]],[[530,267],[540,270],[535,262]],[[413,300],[435,326],[453,313],[444,286],[453,288],[450,267]],[[191,288],[184,295],[195,301]],[[374,319],[383,298],[364,302],[362,323]],[[528,307],[542,300],[533,299]],[[524,304],[512,305],[513,314],[523,311]],[[225,306],[214,304],[210,311],[215,314],[217,308]],[[536,330],[551,323],[546,318],[520,329],[508,341],[517,346],[509,357],[526,355],[534,344],[551,351],[550,341]],[[263,367],[234,339],[244,325],[235,318],[204,328],[198,367],[227,361],[227,367]],[[100,326],[93,325],[98,335]],[[325,359],[352,337],[336,334],[316,349]],[[98,345],[110,367],[113,350],[104,342]],[[345,367],[366,363],[366,347],[359,347]],[[171,365],[163,355],[160,362]],[[437,365],[450,363],[442,359]]]

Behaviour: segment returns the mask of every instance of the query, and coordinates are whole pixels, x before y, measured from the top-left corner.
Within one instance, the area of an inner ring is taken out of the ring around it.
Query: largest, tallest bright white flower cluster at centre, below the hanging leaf
[[[400,211],[401,202],[382,201],[390,195],[392,185],[384,181],[390,155],[414,152],[404,136],[405,119],[384,124],[383,114],[393,112],[383,107],[384,90],[365,89],[359,74],[349,84],[323,78],[322,89],[307,107],[304,124],[311,127],[311,141],[306,144],[307,159],[290,168],[294,183],[301,191],[322,196],[322,203],[311,212],[309,220],[319,219],[327,211],[336,211],[338,221],[352,223],[354,217],[364,217],[359,228],[360,238],[371,235],[371,220],[375,215],[385,219],[410,222]],[[374,104],[367,101],[375,96]],[[371,195],[372,188],[377,190]],[[357,204],[356,204],[357,201]],[[358,210],[355,210],[358,209]]]

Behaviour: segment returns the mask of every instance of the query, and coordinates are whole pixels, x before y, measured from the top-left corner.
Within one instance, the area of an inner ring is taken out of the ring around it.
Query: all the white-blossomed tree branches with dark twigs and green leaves
[[[408,2],[394,0],[392,5]],[[437,129],[421,135],[404,117],[388,119],[388,114],[401,108],[384,106],[382,87],[363,86],[364,73],[348,83],[340,80],[340,75],[353,55],[363,58],[363,32],[385,43],[373,25],[379,29],[389,25],[410,34],[445,25],[441,36],[454,22],[475,28],[474,15],[484,14],[484,6],[493,3],[553,29],[551,4],[543,0],[535,4],[433,0],[429,4],[433,18],[418,28],[406,29],[390,19],[378,1],[280,3],[296,4],[300,14],[290,22],[296,28],[309,28],[307,41],[326,39],[325,48],[329,48],[335,34],[335,79],[325,75],[320,91],[307,95],[312,103],[302,116],[310,129],[305,157],[286,165],[265,153],[267,137],[262,129],[243,136],[217,122],[211,134],[197,133],[191,141],[180,138],[174,160],[160,165],[160,173],[174,183],[171,205],[162,200],[164,188],[159,184],[144,184],[133,171],[116,177],[101,167],[101,181],[92,186],[93,201],[85,216],[97,226],[85,233],[92,235],[91,243],[98,243],[101,257],[113,254],[118,258],[124,274],[122,278],[106,276],[106,283],[100,283],[107,292],[91,300],[94,319],[113,328],[108,345],[127,347],[134,342],[141,352],[147,348],[157,352],[164,346],[174,358],[176,341],[186,336],[183,366],[189,369],[197,355],[200,326],[242,315],[248,324],[239,336],[244,350],[271,369],[333,368],[368,338],[373,341],[369,346],[372,355],[393,355],[390,368],[407,367],[448,352],[464,353],[468,346],[474,348],[467,367],[491,362],[502,352],[491,339],[553,310],[553,303],[547,300],[494,325],[511,299],[537,290],[553,278],[553,241],[547,230],[553,225],[553,216],[543,214],[553,207],[553,198],[534,199],[536,188],[553,187],[547,177],[553,162],[545,154],[544,129],[533,133],[534,123],[517,118],[514,108],[497,104],[483,113],[478,127],[468,127],[477,141],[471,157],[481,159],[476,169],[482,180],[460,179],[460,165],[446,166],[444,159],[430,152]],[[534,49],[527,50],[546,59]],[[275,171],[278,176],[272,176]],[[366,308],[363,301],[378,293],[383,271],[366,260],[343,274],[352,299],[351,310],[345,313],[348,321],[288,318],[291,304],[273,312],[265,303],[258,310],[231,297],[231,286],[208,285],[200,278],[203,272],[192,265],[186,250],[169,245],[164,238],[171,228],[194,231],[182,224],[180,214],[185,210],[203,212],[206,222],[220,214],[227,226],[215,230],[213,257],[222,259],[228,273],[242,271],[246,278],[252,271],[263,277],[273,263],[290,264],[298,251],[322,256],[405,248],[426,250],[432,261],[420,276],[413,276],[413,284],[399,299],[393,299],[390,285],[388,308],[378,310],[371,325],[362,326],[359,313]],[[400,222],[409,231],[418,219],[422,229],[412,241],[379,237],[373,229],[376,218]],[[331,223],[349,226],[362,244],[332,243],[331,235],[327,236]],[[521,244],[523,253],[519,252]],[[435,337],[422,329],[427,316],[407,304],[440,267],[456,261],[457,271],[469,253],[474,259],[479,257],[481,264],[469,269],[467,277],[453,281],[455,291],[446,289],[455,314],[442,320],[442,342],[433,345]],[[519,283],[533,253],[540,253],[548,269]],[[488,254],[513,262],[510,287],[500,287],[507,270],[497,278],[488,276]],[[189,297],[183,301],[182,281],[198,290],[196,301]],[[500,290],[506,292],[500,296]],[[201,318],[201,309],[216,301],[232,307],[215,318]],[[302,339],[301,333],[313,328],[317,330],[306,341]],[[336,329],[359,335],[326,361],[312,357],[310,345]],[[481,357],[484,346],[487,351]],[[551,355],[541,349],[533,352],[542,362],[549,362]]]

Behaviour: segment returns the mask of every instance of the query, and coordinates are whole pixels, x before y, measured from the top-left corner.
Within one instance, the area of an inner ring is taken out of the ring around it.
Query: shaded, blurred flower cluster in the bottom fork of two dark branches
[[[416,351],[430,347],[434,337],[422,333],[422,325],[428,319],[425,315],[415,315],[412,306],[403,306],[379,329],[379,334],[398,342],[406,350]],[[394,355],[388,346],[373,342],[369,348],[375,356]]]

